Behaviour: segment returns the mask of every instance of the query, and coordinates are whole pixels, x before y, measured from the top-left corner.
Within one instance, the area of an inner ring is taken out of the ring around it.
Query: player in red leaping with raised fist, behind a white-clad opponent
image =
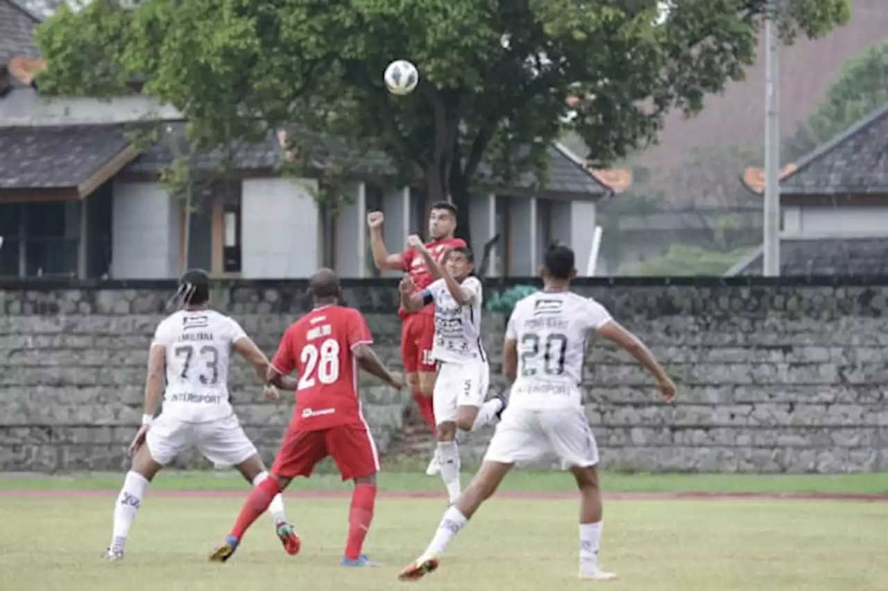
[[[429,287],[435,277],[426,267],[423,257],[414,248],[406,248],[398,254],[390,255],[383,240],[383,212],[371,211],[367,215],[370,227],[370,248],[373,262],[379,271],[403,271],[408,273],[417,292]],[[429,238],[425,245],[436,260],[450,248],[466,247],[465,240],[454,238],[456,230],[456,206],[449,201],[438,201],[429,213]],[[400,330],[400,356],[404,364],[404,374],[413,391],[413,399],[419,412],[432,433],[435,433],[435,417],[432,410],[432,392],[435,389],[436,369],[432,360],[432,342],[435,335],[435,307],[429,304],[420,311],[408,312],[400,307],[398,314],[402,320]],[[432,457],[425,473],[434,476],[440,472],[438,453]]]

